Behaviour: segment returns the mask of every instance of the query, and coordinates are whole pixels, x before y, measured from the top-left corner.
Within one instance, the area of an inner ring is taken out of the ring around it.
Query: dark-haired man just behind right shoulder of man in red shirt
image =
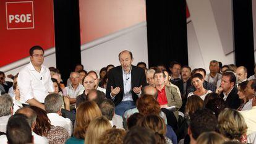
[[[169,70],[171,71],[171,83],[181,79],[181,64],[179,62],[170,62]]]

